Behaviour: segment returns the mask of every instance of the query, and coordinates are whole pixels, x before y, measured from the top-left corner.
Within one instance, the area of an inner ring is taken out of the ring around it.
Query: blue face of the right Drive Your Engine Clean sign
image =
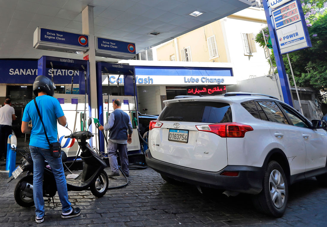
[[[114,51],[126,54],[136,54],[135,43],[119,40],[110,40],[97,37],[97,49],[104,51]]]

